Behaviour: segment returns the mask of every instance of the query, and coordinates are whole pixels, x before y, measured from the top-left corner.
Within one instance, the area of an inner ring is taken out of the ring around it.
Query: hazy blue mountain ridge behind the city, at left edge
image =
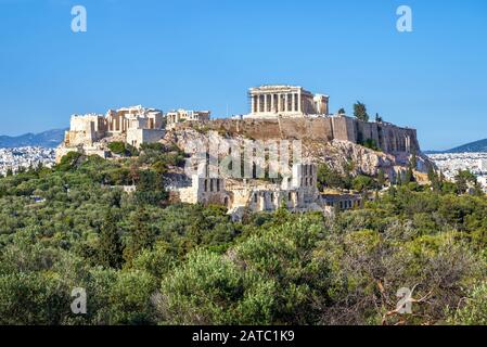
[[[40,133],[25,133],[18,137],[0,136],[0,147],[41,146],[56,147],[64,139],[66,129],[48,130]]]

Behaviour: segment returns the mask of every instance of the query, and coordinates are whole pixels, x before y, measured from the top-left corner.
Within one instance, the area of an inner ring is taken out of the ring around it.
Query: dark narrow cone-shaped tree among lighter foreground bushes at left
[[[116,220],[108,209],[103,224],[100,228],[99,244],[97,249],[98,264],[105,268],[121,268],[123,246]]]

